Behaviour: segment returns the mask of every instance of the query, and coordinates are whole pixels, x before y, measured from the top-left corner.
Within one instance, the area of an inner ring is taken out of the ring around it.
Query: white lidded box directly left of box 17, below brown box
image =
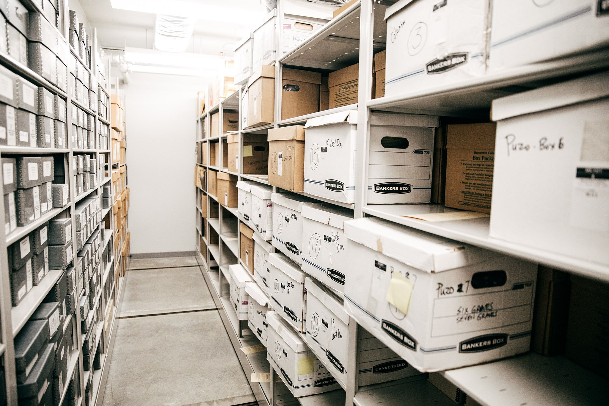
[[[319,205],[314,200],[295,194],[273,193],[273,247],[298,265],[303,252],[303,206]]]

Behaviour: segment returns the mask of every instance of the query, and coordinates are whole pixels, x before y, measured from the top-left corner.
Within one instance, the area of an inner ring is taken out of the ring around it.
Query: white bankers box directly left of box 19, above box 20
[[[269,297],[273,309],[300,332],[305,332],[306,274],[280,253],[269,254]]]

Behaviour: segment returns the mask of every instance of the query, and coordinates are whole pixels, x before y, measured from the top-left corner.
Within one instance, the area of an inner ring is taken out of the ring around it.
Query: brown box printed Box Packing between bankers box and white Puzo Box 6
[[[495,128],[495,123],[448,125],[445,206],[491,212]]]

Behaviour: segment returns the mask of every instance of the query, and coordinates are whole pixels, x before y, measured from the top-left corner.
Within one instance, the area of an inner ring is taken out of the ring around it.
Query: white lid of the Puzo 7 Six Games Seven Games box
[[[490,255],[501,255],[376,218],[345,222],[345,234],[371,250],[428,273],[465,267]]]

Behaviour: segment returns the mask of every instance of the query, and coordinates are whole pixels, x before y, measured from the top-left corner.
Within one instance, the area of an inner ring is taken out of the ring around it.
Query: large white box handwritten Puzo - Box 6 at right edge
[[[493,101],[491,237],[609,264],[608,95],[602,72]]]

